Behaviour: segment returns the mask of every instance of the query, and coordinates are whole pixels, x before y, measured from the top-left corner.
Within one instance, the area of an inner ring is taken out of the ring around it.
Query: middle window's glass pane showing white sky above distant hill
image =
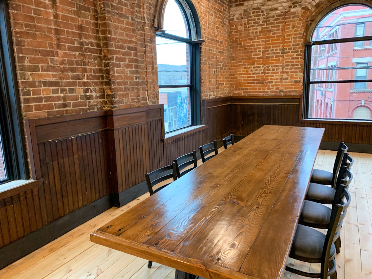
[[[159,85],[190,84],[189,44],[156,36]]]

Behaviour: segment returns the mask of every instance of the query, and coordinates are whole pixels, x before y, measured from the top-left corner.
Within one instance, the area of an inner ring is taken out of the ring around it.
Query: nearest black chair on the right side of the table
[[[308,263],[320,263],[320,273],[310,273],[286,266],[289,272],[311,278],[337,279],[336,272],[336,246],[334,242],[340,234],[340,228],[345,218],[347,208],[350,205],[350,194],[346,187],[343,188],[342,195],[346,199],[337,203],[330,216],[327,234],[317,231],[313,228],[298,224],[294,240],[292,242],[289,257]]]

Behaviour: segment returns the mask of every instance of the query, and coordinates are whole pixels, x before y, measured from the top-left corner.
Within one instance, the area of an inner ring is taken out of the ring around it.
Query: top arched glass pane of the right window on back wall
[[[340,7],[325,16],[317,25],[312,41],[364,36],[365,24],[372,22],[372,9],[362,5]]]

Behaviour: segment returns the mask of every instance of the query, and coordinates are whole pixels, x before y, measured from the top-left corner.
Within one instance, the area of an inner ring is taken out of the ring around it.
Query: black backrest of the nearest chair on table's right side
[[[340,203],[337,203],[332,208],[330,223],[328,225],[327,234],[325,235],[321,262],[321,270],[323,271],[323,274],[327,274],[327,272],[328,274],[333,274],[334,270],[336,269],[336,261],[333,258],[333,264],[328,271],[328,264],[330,262],[330,251],[332,243],[334,243],[340,236],[340,229],[346,216],[347,208],[350,205],[350,194],[346,190],[346,186],[343,187],[341,194],[343,198],[339,197]]]

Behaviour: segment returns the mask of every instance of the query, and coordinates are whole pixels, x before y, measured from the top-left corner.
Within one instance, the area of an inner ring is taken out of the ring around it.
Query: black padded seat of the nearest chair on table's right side
[[[289,257],[308,263],[320,263],[324,241],[325,234],[298,224]],[[329,258],[333,259],[335,256],[336,246],[332,243]]]

